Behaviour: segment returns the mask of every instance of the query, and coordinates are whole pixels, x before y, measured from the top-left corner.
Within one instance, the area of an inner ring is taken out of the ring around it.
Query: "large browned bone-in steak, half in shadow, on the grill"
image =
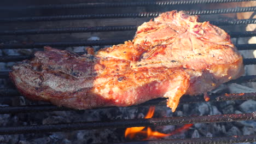
[[[139,26],[132,41],[97,55],[45,47],[10,77],[27,98],[59,106],[130,106],[167,97],[175,111],[183,94],[206,93],[242,73],[242,57],[226,32],[170,11]]]

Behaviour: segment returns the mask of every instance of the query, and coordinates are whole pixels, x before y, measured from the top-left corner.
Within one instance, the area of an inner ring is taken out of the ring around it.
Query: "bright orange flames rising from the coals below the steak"
[[[144,118],[152,118],[154,115],[154,112],[155,112],[155,106],[150,106],[149,111]],[[132,127],[132,128],[127,128],[125,130],[125,138],[134,139],[136,135],[146,135],[147,136],[146,139],[143,139],[143,140],[149,140],[154,138],[160,139],[162,137],[182,133],[183,131],[188,130],[190,127],[192,127],[192,125],[193,124],[185,124],[183,127],[178,128],[169,134],[160,133],[158,131],[152,131],[150,127],[147,127],[147,129],[145,129],[146,127]]]

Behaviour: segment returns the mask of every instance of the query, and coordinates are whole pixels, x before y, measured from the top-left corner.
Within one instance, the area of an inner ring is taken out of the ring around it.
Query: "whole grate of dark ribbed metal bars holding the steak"
[[[149,2],[115,2],[115,3],[86,3],[86,4],[56,4],[56,5],[31,5],[26,7],[0,7],[1,11],[4,10],[38,10],[38,9],[90,9],[90,8],[130,8],[130,7],[166,7],[171,5],[190,5],[190,4],[212,4],[212,3],[228,3],[228,2],[246,2],[248,0],[192,0],[192,1],[149,1]],[[169,8],[170,9],[170,8]],[[184,9],[186,10],[186,9]],[[192,9],[189,14],[197,15],[212,15],[212,14],[227,14],[227,13],[243,13],[249,11],[256,11],[256,7],[236,7],[226,9]],[[143,13],[109,13],[109,14],[82,14],[82,15],[57,15],[57,16],[30,16],[30,17],[7,17],[0,18],[0,22],[51,22],[51,21],[71,21],[71,20],[89,20],[89,19],[118,19],[118,18],[140,18],[140,17],[156,17],[161,12],[143,12]],[[237,26],[255,24],[256,19],[240,19],[240,20],[218,20],[210,21],[213,25],[217,26]],[[39,35],[39,34],[63,34],[63,33],[94,33],[94,32],[115,32],[115,31],[135,31],[138,27],[136,25],[125,26],[95,26],[95,27],[66,27],[66,28],[31,28],[31,29],[15,29],[15,30],[2,30],[0,35],[2,37],[23,37],[24,35]],[[242,31],[242,32],[229,32],[232,38],[242,37],[255,37],[255,31]],[[33,42],[33,43],[1,43],[0,50],[7,49],[34,49],[43,48],[45,45],[52,47],[69,46],[101,46],[101,45],[114,45],[120,44],[127,39],[106,39],[94,41],[55,41],[55,42]],[[130,38],[131,39],[131,38]],[[238,50],[255,50],[256,44],[237,44]],[[78,53],[83,54],[83,53]],[[24,56],[1,56],[0,62],[17,62],[24,59],[32,58],[33,55]],[[256,64],[256,58],[244,58],[245,65]],[[0,71],[0,79],[8,79],[9,71]],[[229,81],[228,83],[246,83],[256,82],[256,75],[242,76],[236,80]],[[14,98],[20,97],[20,93],[11,87],[4,87],[0,89],[0,97]],[[256,93],[237,93],[237,94],[212,94],[210,95],[211,102],[220,102],[228,100],[248,100],[256,99]],[[181,98],[181,104],[199,103],[203,102],[203,95],[189,97],[184,95]],[[166,105],[166,99],[160,98],[150,100],[146,103],[135,105],[131,107],[149,106],[149,105]],[[117,107],[101,107],[98,109],[117,109]],[[49,104],[41,105],[24,105],[24,106],[0,106],[0,114],[13,114],[22,115],[26,113],[35,112],[52,112],[52,111],[80,111],[68,109],[67,107],[57,107]],[[86,110],[85,110],[86,111]],[[12,134],[27,134],[27,133],[49,133],[57,131],[73,131],[73,130],[91,130],[91,129],[105,129],[105,128],[126,128],[126,127],[143,127],[143,126],[156,126],[156,125],[177,125],[177,124],[190,124],[190,123],[219,123],[219,122],[236,122],[245,120],[255,120],[256,112],[251,113],[231,113],[225,115],[211,115],[211,116],[189,116],[189,117],[162,117],[162,118],[149,118],[149,119],[121,119],[118,121],[94,121],[94,122],[76,122],[76,123],[57,123],[57,124],[42,124],[42,125],[23,125],[18,127],[0,127],[0,135]],[[256,135],[240,135],[230,137],[202,137],[198,139],[174,139],[174,140],[157,140],[157,141],[132,141],[123,143],[235,143],[235,142],[254,142]]]

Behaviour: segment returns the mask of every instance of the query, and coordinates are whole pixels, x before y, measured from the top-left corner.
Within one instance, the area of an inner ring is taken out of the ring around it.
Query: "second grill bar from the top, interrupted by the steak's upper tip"
[[[228,9],[207,9],[207,10],[190,10],[188,14],[206,15],[206,14],[226,14],[242,13],[256,11],[256,7],[237,7]],[[1,18],[0,22],[29,22],[29,21],[59,21],[59,20],[82,20],[82,19],[106,19],[106,18],[135,18],[135,17],[156,17],[161,12],[152,13],[123,13],[123,14],[85,14],[85,15],[60,15],[60,16],[38,16],[38,17],[8,17]]]

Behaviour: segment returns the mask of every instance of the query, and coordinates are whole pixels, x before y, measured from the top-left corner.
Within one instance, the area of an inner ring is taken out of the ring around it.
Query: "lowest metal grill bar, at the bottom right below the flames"
[[[216,143],[241,143],[241,142],[254,142],[256,135],[234,135],[225,137],[202,137],[196,139],[171,139],[171,140],[152,140],[152,141],[132,141],[132,142],[119,142],[112,144],[216,144]]]

